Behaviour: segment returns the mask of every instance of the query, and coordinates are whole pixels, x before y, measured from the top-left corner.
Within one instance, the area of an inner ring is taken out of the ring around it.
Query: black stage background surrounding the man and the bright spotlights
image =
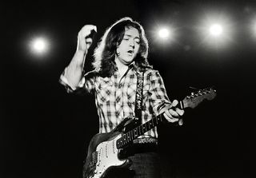
[[[217,97],[186,109],[182,127],[159,127],[164,177],[255,177],[254,76],[256,38],[248,28],[254,1],[34,1],[1,2],[0,177],[80,178],[98,117],[91,96],[67,94],[58,83],[76,49],[78,31],[98,26],[96,41],[119,18],[141,22],[171,100],[214,86]],[[207,47],[196,26],[209,11],[228,14],[235,31],[225,49]],[[177,26],[173,43],[154,28]],[[27,49],[38,34],[50,53]],[[92,50],[86,60],[91,69]]]

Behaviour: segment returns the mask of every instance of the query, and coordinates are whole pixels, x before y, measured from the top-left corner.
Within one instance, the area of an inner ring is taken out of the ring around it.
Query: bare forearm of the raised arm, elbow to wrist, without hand
[[[76,89],[82,79],[85,58],[86,52],[82,50],[77,50],[74,53],[74,57],[70,61],[70,64],[66,66],[66,69],[63,73],[64,77],[66,77],[66,80],[72,89]]]

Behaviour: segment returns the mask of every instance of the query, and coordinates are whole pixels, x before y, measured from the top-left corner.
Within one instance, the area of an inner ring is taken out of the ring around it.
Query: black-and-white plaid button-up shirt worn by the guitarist
[[[132,65],[133,66],[133,65]],[[61,83],[68,86],[68,82],[61,76]],[[135,93],[137,88],[137,73],[134,67],[129,67],[125,75],[118,81],[119,73],[112,77],[100,77],[91,71],[86,73],[80,82],[80,89],[95,96],[98,109],[99,133],[109,133],[123,118],[134,117]],[[68,92],[74,90],[66,87]],[[170,104],[162,77],[157,70],[146,69],[144,73],[142,123],[158,115],[158,109]],[[158,137],[157,129],[151,129],[142,137]]]

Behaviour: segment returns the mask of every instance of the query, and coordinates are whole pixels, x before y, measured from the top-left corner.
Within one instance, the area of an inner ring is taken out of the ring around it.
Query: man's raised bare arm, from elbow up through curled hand
[[[66,83],[66,85],[70,85],[71,89],[76,89],[82,79],[86,53],[93,42],[90,37],[93,30],[96,32],[97,27],[93,25],[86,25],[79,31],[78,45],[76,52],[74,53],[74,57],[70,61],[70,64],[66,66],[64,73],[62,73],[62,81]]]

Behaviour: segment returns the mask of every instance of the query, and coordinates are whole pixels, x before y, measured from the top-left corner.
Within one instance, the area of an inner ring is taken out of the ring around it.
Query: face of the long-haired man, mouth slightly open
[[[130,27],[126,28],[122,42],[118,45],[117,52],[120,55],[117,57],[124,65],[130,65],[138,53],[140,46],[140,38],[138,30]]]

